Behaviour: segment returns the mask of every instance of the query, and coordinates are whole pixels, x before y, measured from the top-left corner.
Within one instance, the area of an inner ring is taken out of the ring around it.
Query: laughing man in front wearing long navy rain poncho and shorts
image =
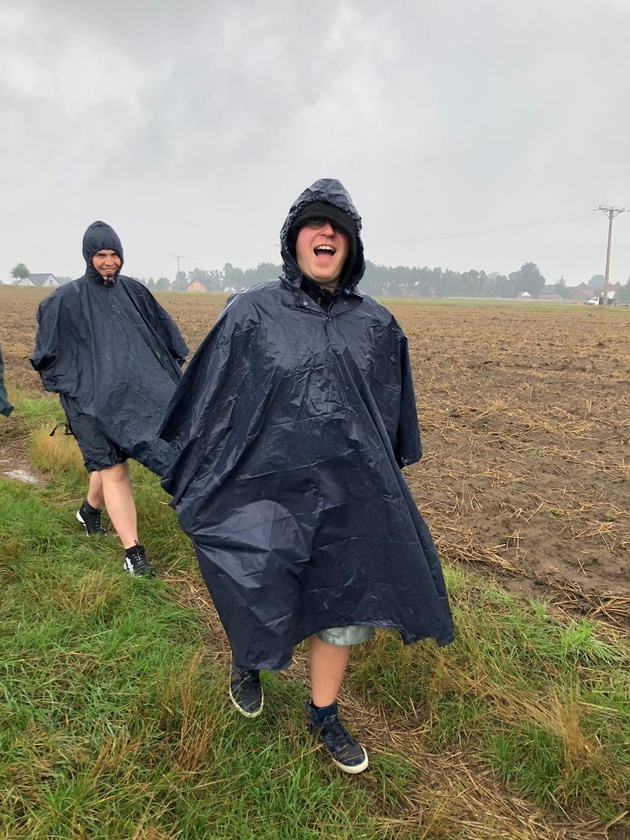
[[[342,184],[300,195],[280,280],[228,301],[184,373],[163,480],[232,648],[230,698],[263,708],[261,669],[308,639],[307,725],[342,770],[368,765],[341,723],[350,646],[374,628],[453,638],[435,546],[401,468],[421,457],[407,341],[357,284],[361,219]]]

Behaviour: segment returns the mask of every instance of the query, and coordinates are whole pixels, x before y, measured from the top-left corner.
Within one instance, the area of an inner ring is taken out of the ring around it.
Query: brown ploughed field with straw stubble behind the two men
[[[28,356],[45,294],[0,287],[8,382],[25,391],[41,390]],[[224,300],[159,299],[192,350]],[[389,309],[409,338],[425,449],[406,476],[444,559],[627,624],[630,311],[427,301]]]

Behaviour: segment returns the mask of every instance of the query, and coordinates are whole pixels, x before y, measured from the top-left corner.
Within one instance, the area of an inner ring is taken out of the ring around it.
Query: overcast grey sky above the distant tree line
[[[630,0],[2,0],[0,280],[279,262],[336,177],[386,265],[569,285],[630,210]],[[611,281],[630,276],[630,212]]]

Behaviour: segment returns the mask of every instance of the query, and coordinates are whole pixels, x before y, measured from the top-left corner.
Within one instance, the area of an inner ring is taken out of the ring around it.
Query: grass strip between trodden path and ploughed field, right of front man
[[[458,636],[404,648],[382,634],[350,678],[392,715],[422,710],[424,746],[468,748],[541,807],[613,819],[630,781],[630,677],[622,638],[559,621],[446,569]]]

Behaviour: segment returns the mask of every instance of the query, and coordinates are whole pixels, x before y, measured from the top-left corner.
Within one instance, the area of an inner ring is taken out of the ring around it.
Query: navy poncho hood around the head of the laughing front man
[[[308,187],[291,206],[289,214],[280,231],[280,253],[282,255],[282,280],[294,288],[299,288],[302,282],[302,272],[295,258],[295,250],[290,241],[289,233],[296,218],[309,205],[316,201],[331,204],[352,220],[356,236],[356,247],[350,251],[340,285],[348,290],[354,289],[365,273],[365,257],[363,241],[361,239],[361,216],[354,206],[350,194],[344,185],[335,178],[320,178]]]

